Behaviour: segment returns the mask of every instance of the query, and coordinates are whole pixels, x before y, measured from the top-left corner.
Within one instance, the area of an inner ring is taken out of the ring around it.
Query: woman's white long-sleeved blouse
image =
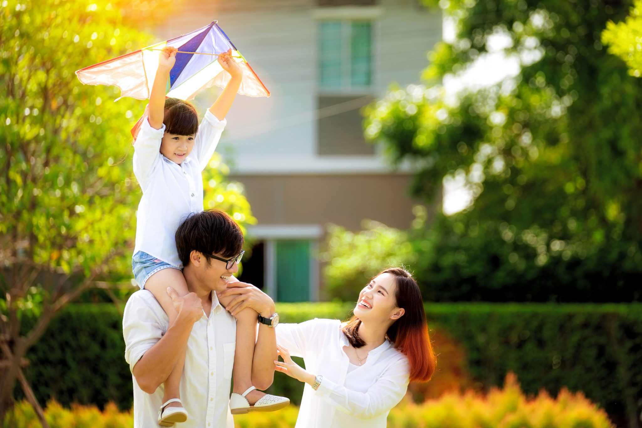
[[[368,353],[362,366],[348,372],[343,347],[348,339],[339,320],[279,324],[277,343],[303,357],[306,370],[322,375],[317,391],[305,384],[296,428],[385,427],[388,412],[406,394],[410,365],[390,341]]]

